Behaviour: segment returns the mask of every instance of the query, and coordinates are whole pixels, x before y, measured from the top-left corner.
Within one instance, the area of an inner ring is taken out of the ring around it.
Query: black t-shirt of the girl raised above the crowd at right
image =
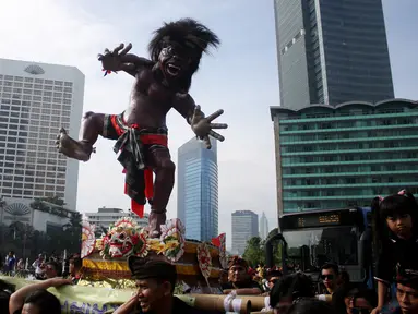
[[[392,238],[378,257],[375,279],[392,283],[396,268],[403,271],[418,270],[418,238],[403,240]]]

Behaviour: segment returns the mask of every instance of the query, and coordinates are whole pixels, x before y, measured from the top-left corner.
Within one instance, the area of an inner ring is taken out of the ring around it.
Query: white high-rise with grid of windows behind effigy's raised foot
[[[0,195],[57,195],[75,210],[79,161],[55,142],[61,126],[77,138],[83,97],[74,67],[0,59]]]

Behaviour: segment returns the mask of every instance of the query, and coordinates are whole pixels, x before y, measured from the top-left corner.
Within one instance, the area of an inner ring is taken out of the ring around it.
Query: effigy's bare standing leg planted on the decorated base
[[[166,147],[151,147],[146,155],[148,166],[155,171],[154,198],[148,217],[150,235],[158,238],[162,233],[160,225],[166,222],[166,208],[175,185],[176,166]]]

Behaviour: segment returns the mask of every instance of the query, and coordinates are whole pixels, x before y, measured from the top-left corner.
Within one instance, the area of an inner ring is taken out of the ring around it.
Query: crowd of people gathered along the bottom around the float
[[[282,274],[280,268],[266,269],[263,265],[251,268],[240,256],[231,256],[228,269],[219,276],[219,292],[270,297],[264,310],[279,314],[418,314],[417,202],[413,194],[401,191],[373,200],[372,213],[377,289],[351,282],[348,273],[334,263],[324,264],[315,280],[302,271]],[[8,258],[15,259],[13,252]],[[1,282],[1,313],[61,313],[58,299],[46,289],[76,283],[81,258],[70,259],[69,279],[58,277],[61,267],[56,261],[43,258],[39,256],[33,267],[36,278],[45,280],[14,292]],[[224,313],[199,310],[176,298],[175,265],[135,256],[129,257],[128,265],[138,290],[114,313]]]

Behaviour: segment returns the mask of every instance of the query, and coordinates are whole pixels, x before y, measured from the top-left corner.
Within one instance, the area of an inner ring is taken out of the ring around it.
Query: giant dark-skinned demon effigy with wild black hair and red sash
[[[167,147],[167,112],[175,108],[191,125],[196,137],[211,148],[210,136],[224,141],[213,129],[227,124],[213,123],[224,111],[205,117],[189,95],[192,76],[199,69],[202,53],[217,47],[218,37],[192,19],[165,23],[154,32],[148,45],[151,59],[128,53],[132,45],[121,44],[112,51],[98,55],[106,74],[124,71],[135,77],[130,105],[120,114],[86,112],[81,140],[71,138],[61,129],[57,141],[60,153],[87,161],[95,150],[98,135],[117,140],[114,150],[126,172],[126,194],[132,210],[143,216],[148,200],[151,237],[159,237],[166,221],[166,206],[175,183],[175,164]],[[153,182],[153,172],[155,181]]]

